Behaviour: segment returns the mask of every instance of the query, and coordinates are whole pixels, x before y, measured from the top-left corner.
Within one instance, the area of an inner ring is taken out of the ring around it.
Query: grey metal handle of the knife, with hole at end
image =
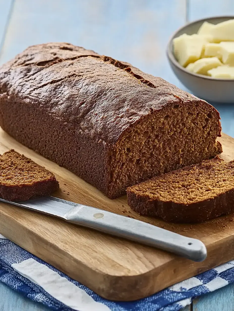
[[[205,245],[198,239],[188,238],[140,220],[94,207],[84,205],[73,207],[65,214],[65,219],[108,234],[161,248],[193,261],[203,261],[207,256]]]

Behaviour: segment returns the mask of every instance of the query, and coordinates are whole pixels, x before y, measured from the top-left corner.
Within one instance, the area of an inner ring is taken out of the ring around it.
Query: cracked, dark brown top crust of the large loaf
[[[169,103],[209,105],[128,63],[68,43],[30,46],[4,64],[3,93],[107,143],[117,142],[129,126]]]

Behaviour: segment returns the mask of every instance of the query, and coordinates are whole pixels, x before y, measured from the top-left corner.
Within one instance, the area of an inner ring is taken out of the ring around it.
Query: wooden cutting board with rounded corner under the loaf
[[[234,138],[223,134],[223,159],[234,159]],[[112,300],[135,300],[234,258],[234,215],[203,224],[184,225],[139,216],[126,196],[111,200],[67,169],[22,146],[0,129],[0,154],[23,153],[51,170],[60,183],[55,196],[131,216],[189,237],[207,247],[204,262],[66,223],[10,204],[0,203],[0,233],[62,272]]]

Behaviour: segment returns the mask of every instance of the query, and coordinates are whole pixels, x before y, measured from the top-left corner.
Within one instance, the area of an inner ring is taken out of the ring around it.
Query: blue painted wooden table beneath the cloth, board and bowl
[[[234,15],[233,0],[0,0],[0,64],[27,46],[65,41],[134,64],[185,89],[165,56],[172,33],[188,21]],[[234,103],[215,104],[234,137]],[[234,285],[195,299],[184,311],[233,311]],[[48,310],[0,283],[1,311]]]

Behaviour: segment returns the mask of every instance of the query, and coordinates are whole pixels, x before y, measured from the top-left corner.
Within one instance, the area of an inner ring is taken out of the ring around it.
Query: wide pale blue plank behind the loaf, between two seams
[[[186,21],[186,0],[16,0],[0,63],[27,46],[66,41],[163,77],[169,36]]]

